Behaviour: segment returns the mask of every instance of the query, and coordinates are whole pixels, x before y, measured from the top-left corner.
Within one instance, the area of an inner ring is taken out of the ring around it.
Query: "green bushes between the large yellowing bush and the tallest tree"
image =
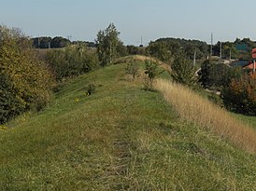
[[[98,67],[96,54],[79,45],[51,50],[47,53],[46,60],[58,81],[87,73]]]

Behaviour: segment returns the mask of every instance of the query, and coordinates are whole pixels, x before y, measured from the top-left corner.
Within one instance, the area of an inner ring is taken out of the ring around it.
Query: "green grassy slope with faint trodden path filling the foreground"
[[[181,122],[113,65],[0,131],[0,190],[253,190],[255,157]],[[90,82],[97,89],[83,93]],[[79,98],[79,102],[76,102]]]

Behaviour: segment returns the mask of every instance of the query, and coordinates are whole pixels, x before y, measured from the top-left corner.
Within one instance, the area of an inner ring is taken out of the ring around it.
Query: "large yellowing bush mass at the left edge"
[[[4,123],[46,105],[54,80],[20,31],[0,26],[0,36],[0,123]]]

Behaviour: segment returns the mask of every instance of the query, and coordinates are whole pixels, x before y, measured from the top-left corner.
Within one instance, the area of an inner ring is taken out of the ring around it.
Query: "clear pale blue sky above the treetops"
[[[138,45],[160,37],[256,40],[256,0],[0,0],[0,23],[34,36],[93,41],[113,22],[121,40]]]

